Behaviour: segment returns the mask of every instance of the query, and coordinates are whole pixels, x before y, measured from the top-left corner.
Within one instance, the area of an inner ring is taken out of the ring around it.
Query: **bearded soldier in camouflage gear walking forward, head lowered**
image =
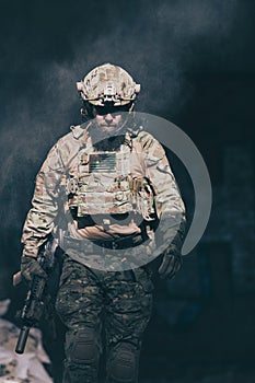
[[[179,269],[184,204],[162,146],[132,112],[140,85],[129,73],[105,63],[77,88],[85,121],[54,146],[37,175],[21,270],[27,282],[46,277],[37,252],[58,221],[63,382],[97,382],[104,328],[106,382],[135,383],[152,309],[149,262],[163,242],[161,277]]]

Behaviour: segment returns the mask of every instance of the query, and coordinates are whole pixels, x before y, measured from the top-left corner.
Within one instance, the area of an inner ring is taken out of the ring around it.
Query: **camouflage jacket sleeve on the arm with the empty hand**
[[[185,235],[185,206],[171,165],[160,142],[148,135],[143,139],[146,175],[155,192],[155,208],[160,224],[155,231],[159,243],[174,244],[181,251]]]

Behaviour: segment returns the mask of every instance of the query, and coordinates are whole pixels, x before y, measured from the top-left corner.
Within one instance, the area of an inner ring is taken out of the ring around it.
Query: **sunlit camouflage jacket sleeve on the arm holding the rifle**
[[[38,247],[51,233],[58,213],[59,185],[63,166],[58,144],[48,153],[35,182],[35,190],[22,234],[23,256],[37,257]]]

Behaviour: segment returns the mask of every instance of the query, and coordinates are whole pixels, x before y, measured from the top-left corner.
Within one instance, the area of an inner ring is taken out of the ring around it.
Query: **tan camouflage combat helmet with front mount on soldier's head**
[[[92,69],[83,81],[77,82],[77,89],[84,102],[86,112],[91,106],[105,106],[112,103],[114,107],[134,107],[140,84],[137,84],[131,76],[123,68],[104,63]]]

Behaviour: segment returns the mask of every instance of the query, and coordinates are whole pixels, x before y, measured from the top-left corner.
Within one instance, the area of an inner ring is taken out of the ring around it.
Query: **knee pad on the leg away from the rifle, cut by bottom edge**
[[[121,343],[114,347],[107,363],[107,382],[136,383],[139,350],[131,344]]]

